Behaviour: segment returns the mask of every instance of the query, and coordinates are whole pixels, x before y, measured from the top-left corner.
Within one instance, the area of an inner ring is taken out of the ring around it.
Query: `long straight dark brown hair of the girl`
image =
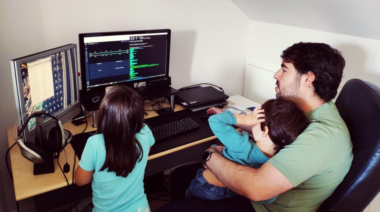
[[[114,86],[101,101],[97,133],[103,133],[108,168],[116,176],[127,177],[142,159],[142,147],[135,135],[144,124],[144,103],[127,86]]]

